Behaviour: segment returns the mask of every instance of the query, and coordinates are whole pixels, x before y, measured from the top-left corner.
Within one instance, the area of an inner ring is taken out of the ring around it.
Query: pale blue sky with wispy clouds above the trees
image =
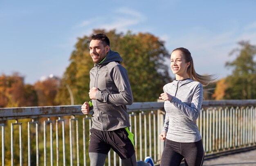
[[[255,9],[255,0],[1,0],[0,74],[19,72],[30,84],[61,77],[77,38],[103,28],[149,32],[170,53],[189,49],[199,74],[223,78],[238,42],[256,45]]]

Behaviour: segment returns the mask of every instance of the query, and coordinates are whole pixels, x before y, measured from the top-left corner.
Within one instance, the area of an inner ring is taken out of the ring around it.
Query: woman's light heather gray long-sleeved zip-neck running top
[[[175,80],[163,89],[173,96],[171,101],[164,102],[166,117],[162,131],[166,131],[166,138],[176,142],[200,141],[196,119],[202,106],[202,84],[192,79]]]

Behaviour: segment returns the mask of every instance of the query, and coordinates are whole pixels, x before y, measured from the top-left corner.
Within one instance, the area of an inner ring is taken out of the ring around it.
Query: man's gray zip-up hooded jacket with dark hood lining
[[[105,60],[90,70],[90,89],[97,87],[92,100],[92,128],[112,131],[130,127],[126,105],[133,102],[132,90],[123,61],[117,52],[108,52]]]

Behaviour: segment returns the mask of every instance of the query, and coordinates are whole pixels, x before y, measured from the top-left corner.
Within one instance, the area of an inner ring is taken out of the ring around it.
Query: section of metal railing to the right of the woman
[[[204,101],[197,120],[206,157],[256,148],[256,100]]]

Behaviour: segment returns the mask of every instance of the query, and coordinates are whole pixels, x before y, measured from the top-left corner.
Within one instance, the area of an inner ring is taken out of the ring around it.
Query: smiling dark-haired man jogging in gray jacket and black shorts
[[[112,148],[124,166],[137,166],[126,108],[132,104],[133,97],[126,69],[120,65],[123,59],[110,49],[105,34],[92,35],[89,49],[95,63],[90,70],[89,96],[92,101],[83,103],[81,111],[83,114],[94,111],[90,129],[90,164],[103,166]]]

